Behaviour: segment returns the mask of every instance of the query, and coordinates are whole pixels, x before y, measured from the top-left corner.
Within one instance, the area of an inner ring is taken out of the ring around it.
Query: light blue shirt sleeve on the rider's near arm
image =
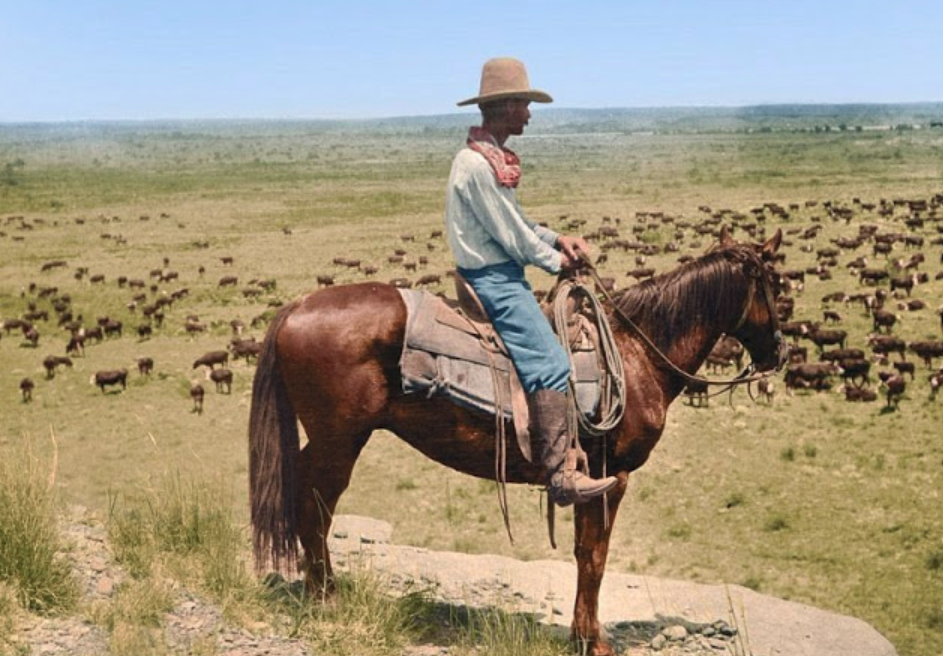
[[[562,257],[553,247],[557,233],[524,216],[514,190],[500,187],[486,162],[470,172],[465,191],[476,218],[509,257],[521,266],[560,271]]]

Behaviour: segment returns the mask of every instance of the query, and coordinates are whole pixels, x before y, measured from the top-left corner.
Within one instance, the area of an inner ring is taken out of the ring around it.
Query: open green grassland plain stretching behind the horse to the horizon
[[[767,234],[783,228],[787,268],[804,269],[815,263],[815,254],[801,249],[807,243],[823,247],[865,223],[905,230],[902,211],[883,217],[859,209],[846,225],[825,215],[823,201],[857,207],[855,198],[876,203],[943,192],[943,130],[923,118],[939,116],[939,107],[830,111],[608,118],[537,112],[532,130],[512,144],[525,162],[521,199],[532,218],[552,227],[580,219],[589,232],[610,217],[626,235],[644,226],[642,238],[655,244],[675,241],[678,222],[704,218],[702,205],[749,213],[765,202],[796,203],[800,209],[787,219],[768,216],[764,225]],[[448,270],[446,245],[430,234],[441,228],[445,180],[464,123],[0,126],[0,319],[20,316],[30,300],[49,308],[29,291],[35,283],[69,294],[86,324],[107,315],[125,327],[121,338],[88,346],[51,380],[42,359],[64,355],[68,337],[54,315],[37,324],[36,348],[16,332],[0,336],[0,452],[26,446],[47,458],[55,451],[61,499],[103,512],[113,495],[151,494],[168,474],[220,481],[245,521],[253,368],[233,365],[232,393],[217,394],[193,361],[225,347],[230,321],[249,326],[313,289],[318,275],[338,283],[364,279],[332,264],[335,257],[377,265],[379,280],[412,275],[387,262],[396,248],[413,261],[429,259],[420,273]],[[656,211],[674,223],[647,221],[644,213]],[[895,331],[907,341],[941,338],[935,311],[943,280],[934,275],[943,268],[943,247],[929,243],[937,225],[931,220],[918,230],[927,238],[921,270],[930,282],[914,297],[928,308],[899,311]],[[821,226],[816,239],[800,239],[811,226]],[[666,271],[680,254],[697,255],[709,244],[688,231],[680,245],[680,253],[651,257],[649,265]],[[843,265],[863,254],[872,266],[890,266],[864,246],[842,254],[832,280],[810,278],[794,294],[796,318],[820,320],[824,308],[836,309],[849,346],[858,348],[871,330],[861,306],[821,299],[861,290]],[[909,254],[897,245],[892,259]],[[67,266],[41,271],[58,259]],[[105,282],[77,280],[78,267]],[[603,274],[624,287],[634,267],[631,254],[613,250]],[[160,290],[185,287],[189,295],[141,340],[135,327],[143,320],[127,307],[132,293],[116,280],[157,284],[149,277],[155,269],[179,273]],[[225,275],[237,275],[239,284],[219,287]],[[252,279],[277,286],[246,296]],[[552,283],[539,272],[532,279],[538,288]],[[206,332],[184,329],[191,314]],[[139,356],[154,358],[150,377],[138,375]],[[127,390],[102,393],[89,384],[96,370],[119,367],[131,370]],[[771,405],[743,390],[704,409],[677,401],[662,442],[630,481],[610,570],[742,584],[860,617],[904,656],[943,653],[943,399],[929,399],[927,373],[918,366],[899,412],[884,411],[882,401],[846,403],[837,391],[787,394],[781,384]],[[30,404],[18,390],[25,376],[36,382]],[[207,388],[202,414],[192,411],[194,381]],[[389,520],[399,543],[570,557],[566,521],[558,523],[559,551],[550,549],[536,490],[514,488],[510,506],[513,544],[492,483],[424,460],[378,433],[339,512]]]

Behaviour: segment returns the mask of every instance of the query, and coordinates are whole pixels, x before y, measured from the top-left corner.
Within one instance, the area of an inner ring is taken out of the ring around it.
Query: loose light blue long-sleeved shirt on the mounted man
[[[463,148],[452,161],[445,228],[456,264],[480,269],[514,261],[560,271],[559,235],[524,216],[517,193],[498,184],[488,160]]]

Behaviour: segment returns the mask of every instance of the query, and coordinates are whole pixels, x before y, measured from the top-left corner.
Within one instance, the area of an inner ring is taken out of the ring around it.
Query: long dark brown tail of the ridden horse
[[[249,412],[249,500],[255,566],[276,572],[298,562],[297,475],[299,436],[295,409],[278,366],[276,338],[298,302],[282,307],[269,326],[252,383]]]

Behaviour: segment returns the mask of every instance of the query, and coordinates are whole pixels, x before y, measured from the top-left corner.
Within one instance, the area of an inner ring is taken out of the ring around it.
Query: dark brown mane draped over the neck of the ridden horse
[[[623,290],[616,305],[656,343],[667,344],[692,325],[716,324],[718,317],[742,311],[743,294],[729,292],[746,290],[749,283],[738,265],[746,259],[756,259],[749,246],[711,251]]]

